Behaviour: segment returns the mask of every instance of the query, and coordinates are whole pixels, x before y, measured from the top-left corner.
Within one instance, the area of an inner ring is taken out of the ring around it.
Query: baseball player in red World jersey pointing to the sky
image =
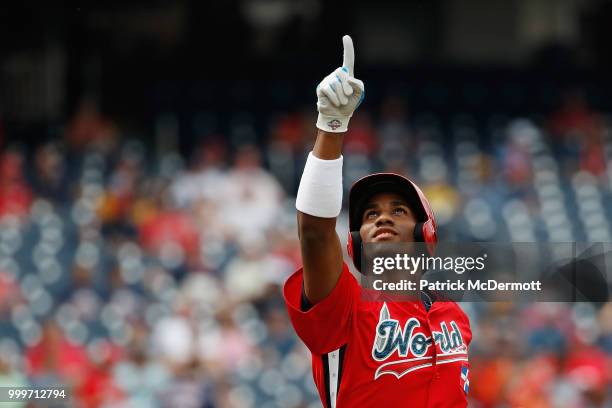
[[[317,138],[300,181],[296,208],[303,267],[285,283],[287,310],[312,353],[313,377],[326,408],[465,407],[469,321],[453,302],[364,300],[344,263],[335,231],[342,204],[342,140],[364,97],[354,77],[353,42],[344,61],[317,87]],[[436,242],[427,199],[410,180],[373,174],[349,195],[349,254],[361,242]]]

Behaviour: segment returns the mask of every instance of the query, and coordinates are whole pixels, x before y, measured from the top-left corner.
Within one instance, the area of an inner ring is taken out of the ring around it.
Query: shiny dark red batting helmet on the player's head
[[[376,173],[359,180],[349,192],[349,237],[348,253],[361,272],[361,221],[363,207],[378,193],[397,193],[403,196],[414,212],[417,223],[414,226],[415,242],[425,242],[430,252],[438,242],[436,221],[431,206],[421,189],[406,177],[395,173]]]

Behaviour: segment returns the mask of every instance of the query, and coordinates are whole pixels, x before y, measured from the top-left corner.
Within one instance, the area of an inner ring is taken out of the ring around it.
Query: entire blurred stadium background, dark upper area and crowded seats
[[[3,6],[0,385],[320,406],[280,287],[345,33],[367,89],[346,187],[409,175],[445,241],[610,242],[611,19],[594,0]],[[470,406],[612,406],[611,303],[465,309]]]

